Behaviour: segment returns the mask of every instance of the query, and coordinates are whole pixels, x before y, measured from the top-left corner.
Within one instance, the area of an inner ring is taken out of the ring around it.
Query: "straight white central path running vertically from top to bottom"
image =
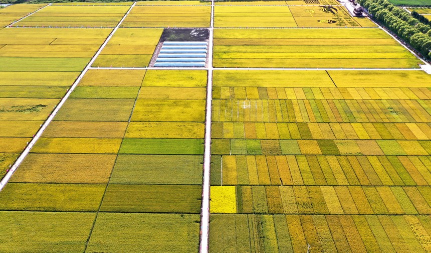
[[[200,213],[199,252],[207,253],[209,248],[209,170],[211,163],[211,114],[212,114],[212,47],[214,27],[214,0],[211,0],[211,20],[208,45],[208,80],[206,82],[205,139],[203,152],[202,206]]]

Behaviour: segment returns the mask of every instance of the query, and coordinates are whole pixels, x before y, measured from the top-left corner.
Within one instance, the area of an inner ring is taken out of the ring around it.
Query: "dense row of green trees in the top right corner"
[[[358,0],[377,21],[431,59],[431,26],[420,22],[387,0]]]

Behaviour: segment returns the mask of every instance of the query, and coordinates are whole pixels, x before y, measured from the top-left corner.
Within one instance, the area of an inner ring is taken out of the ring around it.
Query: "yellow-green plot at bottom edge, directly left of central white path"
[[[197,251],[199,220],[198,214],[101,212],[87,251]]]

